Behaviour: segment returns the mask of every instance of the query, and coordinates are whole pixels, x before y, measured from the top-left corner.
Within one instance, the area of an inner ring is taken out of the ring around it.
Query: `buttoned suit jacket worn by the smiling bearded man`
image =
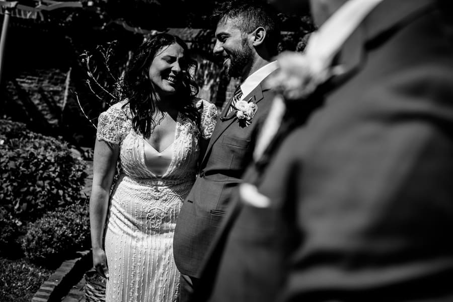
[[[234,113],[226,117],[231,100],[220,114],[201,161],[199,175],[176,225],[174,255],[181,273],[198,277],[207,247],[226,213],[230,195],[242,181],[244,170],[252,160],[257,136],[273,97],[274,93],[261,83],[244,98],[252,98],[258,106],[248,127],[241,125]]]

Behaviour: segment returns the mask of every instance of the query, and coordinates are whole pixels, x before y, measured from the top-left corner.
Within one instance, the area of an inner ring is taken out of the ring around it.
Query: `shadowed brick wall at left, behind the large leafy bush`
[[[68,70],[58,68],[20,72],[6,82],[4,115],[32,131],[61,136],[76,147],[93,147],[96,130],[75,99],[75,82],[81,79],[71,79]]]

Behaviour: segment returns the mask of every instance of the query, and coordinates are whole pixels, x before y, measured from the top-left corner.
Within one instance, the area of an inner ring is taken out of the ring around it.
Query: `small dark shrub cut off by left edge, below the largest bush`
[[[10,213],[0,208],[0,255],[12,255],[18,251],[17,239],[20,235],[19,227]]]

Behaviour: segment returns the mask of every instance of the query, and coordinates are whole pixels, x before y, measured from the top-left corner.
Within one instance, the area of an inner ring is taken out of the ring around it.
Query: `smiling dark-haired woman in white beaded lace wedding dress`
[[[180,38],[154,36],[127,69],[127,99],[99,116],[90,224],[107,302],[178,298],[175,222],[217,119],[215,106],[195,97],[194,64]]]

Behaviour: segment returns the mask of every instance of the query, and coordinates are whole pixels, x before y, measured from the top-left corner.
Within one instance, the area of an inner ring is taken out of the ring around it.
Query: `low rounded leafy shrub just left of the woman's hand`
[[[72,253],[90,247],[88,203],[48,212],[34,223],[22,241],[31,262],[55,267]]]

